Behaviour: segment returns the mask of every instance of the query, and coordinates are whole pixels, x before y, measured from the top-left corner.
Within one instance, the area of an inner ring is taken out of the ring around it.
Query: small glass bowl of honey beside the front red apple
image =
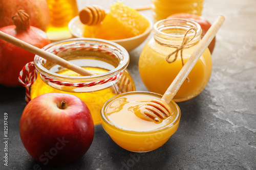
[[[133,91],[118,94],[108,100],[101,109],[101,125],[115,143],[132,152],[149,152],[161,147],[178,129],[181,112],[170,102],[172,114],[161,123],[143,119],[136,110],[162,95]]]

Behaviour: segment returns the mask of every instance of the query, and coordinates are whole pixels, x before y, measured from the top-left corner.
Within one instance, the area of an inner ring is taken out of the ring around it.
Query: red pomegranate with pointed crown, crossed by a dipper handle
[[[13,17],[15,25],[0,28],[0,31],[23,40],[38,48],[50,43],[46,33],[30,26],[29,15],[19,10]],[[18,76],[23,66],[34,60],[34,54],[0,39],[0,84],[19,85]]]

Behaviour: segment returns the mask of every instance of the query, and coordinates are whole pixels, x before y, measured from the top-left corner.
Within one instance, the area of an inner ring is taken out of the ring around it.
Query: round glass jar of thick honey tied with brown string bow
[[[154,36],[146,43],[139,58],[140,76],[149,91],[164,94],[195,51],[201,33],[198,23],[186,19],[164,19],[155,23]],[[188,39],[186,44],[185,37]],[[182,102],[201,93],[210,79],[211,69],[211,55],[207,48],[173,100]]]

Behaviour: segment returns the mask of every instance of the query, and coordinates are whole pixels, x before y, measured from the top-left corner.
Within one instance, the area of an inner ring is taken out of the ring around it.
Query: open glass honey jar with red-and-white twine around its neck
[[[129,54],[120,45],[106,40],[74,38],[51,43],[43,50],[83,67],[96,75],[80,76],[67,68],[35,56],[38,76],[31,86],[31,99],[49,92],[78,96],[89,107],[94,124],[100,124],[100,109],[113,96],[134,91],[126,67]]]

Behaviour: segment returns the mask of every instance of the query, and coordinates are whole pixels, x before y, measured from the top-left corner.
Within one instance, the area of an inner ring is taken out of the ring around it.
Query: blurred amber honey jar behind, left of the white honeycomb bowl
[[[76,0],[47,0],[50,10],[50,24],[47,36],[51,41],[72,38],[69,21],[78,15]]]

